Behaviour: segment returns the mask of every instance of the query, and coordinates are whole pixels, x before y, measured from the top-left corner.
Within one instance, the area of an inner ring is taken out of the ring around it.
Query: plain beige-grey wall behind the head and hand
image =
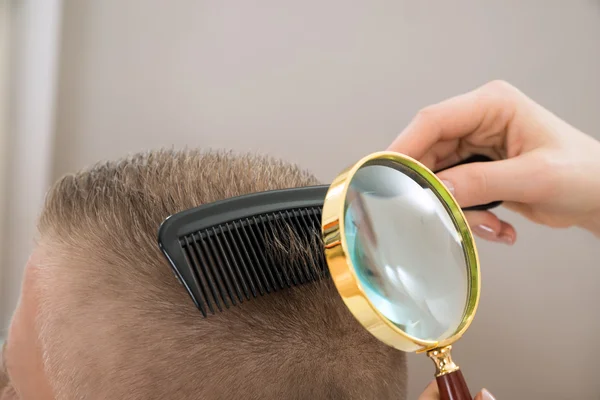
[[[326,181],[420,107],[495,78],[600,138],[598,1],[234,3],[65,1],[54,177],[190,146],[267,152]],[[599,242],[502,216],[519,241],[480,244],[457,361],[499,399],[598,399]],[[412,398],[432,372],[411,357]]]

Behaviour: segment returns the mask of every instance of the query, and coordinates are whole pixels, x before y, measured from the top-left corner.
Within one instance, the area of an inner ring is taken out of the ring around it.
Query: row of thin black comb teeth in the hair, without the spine
[[[328,274],[320,220],[320,207],[285,210],[181,237],[202,315]]]

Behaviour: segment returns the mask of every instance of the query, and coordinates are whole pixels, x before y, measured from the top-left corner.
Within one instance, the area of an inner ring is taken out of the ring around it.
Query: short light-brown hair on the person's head
[[[205,319],[157,246],[160,223],[178,211],[317,183],[270,157],[195,150],[60,179],[39,221],[36,320],[57,399],[404,398],[404,354],[360,326],[330,279]],[[318,259],[320,246],[296,242],[270,248]]]

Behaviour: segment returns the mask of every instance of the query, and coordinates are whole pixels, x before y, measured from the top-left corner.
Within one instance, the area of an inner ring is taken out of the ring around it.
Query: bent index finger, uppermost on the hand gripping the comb
[[[388,150],[420,159],[442,140],[461,139],[475,133],[504,133],[514,116],[517,92],[510,84],[494,81],[426,107]]]

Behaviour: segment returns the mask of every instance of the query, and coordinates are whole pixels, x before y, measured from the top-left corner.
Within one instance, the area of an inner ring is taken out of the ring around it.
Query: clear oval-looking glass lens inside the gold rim
[[[382,315],[413,337],[442,340],[456,332],[467,305],[466,257],[442,201],[402,168],[366,165],[354,175],[344,216],[348,251]]]

